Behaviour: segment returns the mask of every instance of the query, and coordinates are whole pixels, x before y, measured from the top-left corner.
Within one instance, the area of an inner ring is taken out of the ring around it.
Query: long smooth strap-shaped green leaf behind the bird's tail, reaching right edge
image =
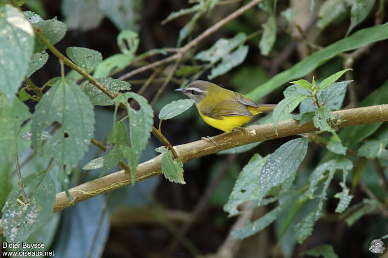
[[[385,40],[388,38],[387,28],[388,25],[376,25],[371,28],[357,30],[349,37],[314,52],[290,69],[277,74],[266,83],[246,94],[246,96],[253,100],[259,100],[269,92],[275,91],[277,88],[283,86],[285,83],[306,76],[311,71],[315,70],[315,68],[321,66],[339,53],[353,50],[372,42]]]

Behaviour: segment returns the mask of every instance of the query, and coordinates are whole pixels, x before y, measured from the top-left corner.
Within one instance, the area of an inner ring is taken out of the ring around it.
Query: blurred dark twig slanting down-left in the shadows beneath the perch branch
[[[192,212],[191,219],[182,225],[182,227],[179,229],[178,234],[175,235],[174,239],[168,245],[166,249],[167,256],[172,254],[175,251],[175,249],[178,247],[179,239],[181,239],[189,231],[191,226],[193,226],[194,222],[198,219],[199,215],[202,214],[202,212],[205,210],[211,194],[215,191],[215,189],[217,189],[217,186],[220,184],[222,179],[226,176],[228,172],[228,167],[230,163],[232,163],[235,160],[235,158],[236,158],[236,154],[228,155],[226,162],[218,171],[216,177],[206,188],[204,194],[197,202],[197,205],[195,206],[194,211]]]

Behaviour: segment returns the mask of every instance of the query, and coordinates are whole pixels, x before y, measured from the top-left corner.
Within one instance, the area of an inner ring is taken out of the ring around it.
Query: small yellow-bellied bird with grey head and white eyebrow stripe
[[[184,89],[183,92],[195,101],[201,118],[211,126],[230,133],[252,119],[254,115],[274,110],[276,105],[259,105],[244,95],[226,90],[209,81],[196,80]],[[213,141],[212,137],[202,137]]]

